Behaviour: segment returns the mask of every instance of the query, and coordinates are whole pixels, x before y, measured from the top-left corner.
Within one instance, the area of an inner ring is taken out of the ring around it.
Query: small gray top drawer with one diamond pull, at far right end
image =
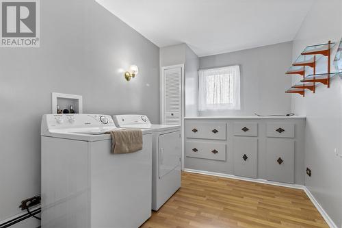
[[[294,123],[267,123],[267,137],[294,138]]]

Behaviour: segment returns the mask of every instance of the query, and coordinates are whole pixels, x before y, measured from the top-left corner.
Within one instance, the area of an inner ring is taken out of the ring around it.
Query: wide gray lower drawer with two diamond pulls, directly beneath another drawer
[[[210,160],[226,160],[226,144],[211,142],[187,141],[185,143],[185,155]]]

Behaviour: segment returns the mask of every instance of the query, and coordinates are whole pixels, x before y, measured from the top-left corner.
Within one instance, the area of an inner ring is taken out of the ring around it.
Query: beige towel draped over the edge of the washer
[[[140,129],[117,129],[105,134],[111,135],[111,153],[133,153],[142,150]]]

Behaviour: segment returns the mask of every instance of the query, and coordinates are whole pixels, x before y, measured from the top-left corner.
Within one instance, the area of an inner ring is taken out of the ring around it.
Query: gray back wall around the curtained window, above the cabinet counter
[[[200,58],[200,68],[240,65],[241,110],[201,111],[199,116],[253,116],[291,112],[291,77],[285,72],[291,65],[292,43],[285,42],[244,51]]]

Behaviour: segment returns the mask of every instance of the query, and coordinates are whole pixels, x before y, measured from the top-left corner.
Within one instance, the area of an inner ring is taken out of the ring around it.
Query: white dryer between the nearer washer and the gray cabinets
[[[144,115],[116,115],[118,127],[150,129],[152,145],[152,209],[159,210],[181,188],[181,126],[153,125]]]

